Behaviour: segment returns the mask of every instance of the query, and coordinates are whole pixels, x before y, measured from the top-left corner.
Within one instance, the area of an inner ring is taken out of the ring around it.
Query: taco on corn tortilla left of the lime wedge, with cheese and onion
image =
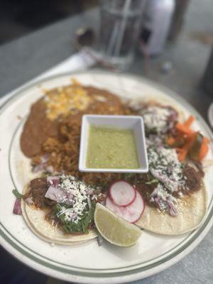
[[[94,208],[104,195],[71,175],[35,178],[23,190],[21,209],[34,234],[55,244],[77,244],[97,236]]]

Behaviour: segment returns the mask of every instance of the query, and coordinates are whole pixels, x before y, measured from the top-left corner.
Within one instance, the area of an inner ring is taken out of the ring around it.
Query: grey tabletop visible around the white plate
[[[195,31],[211,33],[212,16],[211,1],[191,1],[185,26],[177,42],[167,45],[165,52],[158,58],[152,58],[147,68],[144,67],[143,56],[136,53],[135,62],[127,70],[178,92],[204,116],[204,119],[207,119],[207,109],[213,98],[202,91],[200,81],[211,47],[199,40],[192,40],[190,35]],[[73,35],[76,28],[80,26],[97,28],[98,22],[98,11],[91,10],[1,45],[0,97],[75,53]],[[170,62],[172,65],[166,74],[162,72],[162,65],[165,62]],[[44,275],[26,268],[9,256],[4,249],[0,249],[0,259],[0,283],[47,281]],[[135,283],[213,283],[213,229],[182,261],[166,271]]]

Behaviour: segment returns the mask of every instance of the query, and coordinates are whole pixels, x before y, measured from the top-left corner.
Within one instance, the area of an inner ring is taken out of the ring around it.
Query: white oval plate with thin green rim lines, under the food
[[[29,160],[20,151],[19,138],[31,104],[43,95],[43,88],[50,89],[69,84],[70,78],[95,87],[109,89],[126,98],[156,98],[170,102],[182,109],[183,114],[197,118],[195,128],[212,138],[212,133],[202,117],[187,102],[168,89],[151,81],[130,75],[114,75],[108,72],[82,72],[51,77],[24,87],[0,109],[0,242],[14,257],[37,271],[55,278],[78,283],[124,283],[145,278],[173,265],[195,249],[212,226],[213,168],[205,175],[208,191],[208,211],[202,225],[190,234],[160,236],[143,231],[138,244],[128,249],[96,240],[77,246],[50,246],[38,239],[23,222],[12,214],[15,197],[12,189],[20,192],[32,178]],[[20,116],[23,118],[20,120]],[[212,143],[209,157],[212,158]]]

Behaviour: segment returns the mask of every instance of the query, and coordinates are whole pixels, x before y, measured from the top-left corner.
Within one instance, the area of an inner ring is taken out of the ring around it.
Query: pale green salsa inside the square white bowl
[[[133,131],[90,126],[86,165],[87,168],[139,168]]]

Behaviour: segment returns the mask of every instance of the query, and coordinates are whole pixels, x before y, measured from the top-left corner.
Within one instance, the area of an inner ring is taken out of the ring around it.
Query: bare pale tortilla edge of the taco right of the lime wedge
[[[177,200],[178,215],[173,217],[167,212],[146,204],[141,218],[136,224],[143,229],[157,234],[178,235],[185,234],[197,228],[207,211],[207,198],[204,185]]]

